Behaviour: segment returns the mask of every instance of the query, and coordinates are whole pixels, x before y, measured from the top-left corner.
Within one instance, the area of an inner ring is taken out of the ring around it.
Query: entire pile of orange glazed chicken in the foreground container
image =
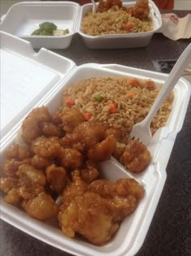
[[[146,147],[123,144],[121,132],[85,121],[70,107],[53,114],[45,106],[34,109],[21,132],[24,146],[11,145],[3,158],[4,201],[34,219],[56,218],[70,238],[82,236],[94,245],[111,240],[144,189],[134,179],[105,180],[99,163],[114,156],[129,171],[142,171],[151,161]]]

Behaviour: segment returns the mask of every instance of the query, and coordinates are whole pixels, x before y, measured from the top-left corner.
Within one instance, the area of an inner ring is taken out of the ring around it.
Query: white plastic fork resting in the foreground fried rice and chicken
[[[165,81],[162,89],[160,90],[157,98],[155,99],[154,104],[151,106],[151,110],[146,115],[146,118],[138,124],[134,124],[130,132],[130,137],[142,141],[144,145],[148,145],[151,141],[151,121],[155,116],[156,112],[159,110],[160,106],[163,105],[163,102],[168,97],[168,94],[172,91],[177,81],[180,79],[180,76],[184,72],[185,68],[188,66],[191,61],[191,43],[183,53],[180,55],[180,58],[176,61],[176,64],[172,68],[167,80]]]

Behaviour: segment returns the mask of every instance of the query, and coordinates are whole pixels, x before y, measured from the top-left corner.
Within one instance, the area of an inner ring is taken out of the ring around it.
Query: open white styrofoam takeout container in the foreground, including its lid
[[[19,127],[26,115],[36,106],[48,106],[56,111],[61,105],[62,90],[71,83],[90,77],[136,76],[151,78],[163,84],[167,75],[116,64],[100,65],[88,63],[76,66],[70,59],[45,49],[38,53],[32,50],[28,41],[23,41],[8,33],[1,33],[1,111],[2,141],[1,155],[15,141]],[[149,150],[152,163],[140,174],[134,175],[117,163],[109,160],[101,164],[102,172],[108,180],[134,177],[145,188],[145,196],[138,208],[122,223],[117,234],[106,245],[91,245],[86,241],[70,239],[51,223],[40,222],[29,217],[23,210],[3,202],[1,198],[1,218],[16,228],[27,232],[40,241],[53,245],[70,254],[81,256],[130,256],[141,247],[146,232],[155,213],[160,194],[166,180],[166,167],[174,145],[176,134],[180,132],[189,103],[189,82],[180,78],[174,88],[172,113],[166,127],[160,128],[152,138]],[[3,100],[5,99],[5,100]]]

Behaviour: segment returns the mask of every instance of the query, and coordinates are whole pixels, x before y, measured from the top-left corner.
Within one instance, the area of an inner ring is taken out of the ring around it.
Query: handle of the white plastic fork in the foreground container
[[[151,120],[155,116],[156,112],[159,110],[159,107],[163,105],[163,102],[168,97],[168,94],[172,91],[177,81],[180,79],[180,76],[184,72],[185,68],[188,66],[189,61],[191,60],[191,43],[183,53],[180,55],[180,58],[176,61],[176,64],[172,68],[168,79],[165,81],[162,89],[160,90],[157,98],[155,99],[154,104],[151,106],[151,110],[146,115],[146,118],[142,121],[143,123],[151,124]]]

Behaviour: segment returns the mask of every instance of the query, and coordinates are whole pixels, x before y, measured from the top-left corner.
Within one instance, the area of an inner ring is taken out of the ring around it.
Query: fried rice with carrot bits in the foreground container
[[[152,80],[93,77],[67,87],[63,92],[63,104],[70,98],[74,102],[70,107],[77,108],[82,115],[90,113],[90,120],[120,130],[123,141],[127,142],[133,125],[146,117],[160,89],[161,86],[155,88]],[[173,93],[170,93],[151,122],[152,133],[166,124],[172,100]],[[116,111],[110,111],[111,104],[116,105]]]

